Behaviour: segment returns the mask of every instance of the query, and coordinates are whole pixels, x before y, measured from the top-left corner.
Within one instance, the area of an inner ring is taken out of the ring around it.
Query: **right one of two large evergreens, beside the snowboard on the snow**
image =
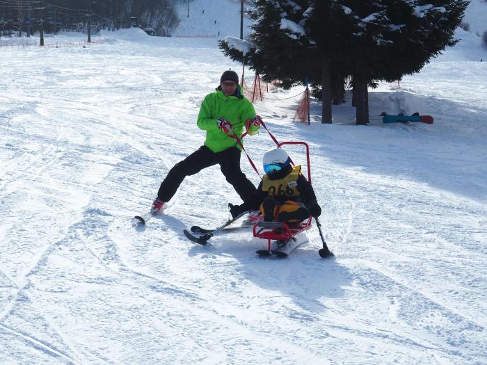
[[[340,63],[353,75],[357,124],[369,120],[367,86],[394,81],[419,72],[447,46],[455,44],[454,30],[461,23],[468,1],[343,0],[351,10],[349,51],[353,63]]]

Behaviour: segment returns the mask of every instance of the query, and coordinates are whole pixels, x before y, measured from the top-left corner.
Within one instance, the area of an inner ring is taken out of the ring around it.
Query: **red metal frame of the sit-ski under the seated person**
[[[306,147],[306,162],[308,163],[308,181],[311,184],[311,169],[310,169],[310,146],[308,143],[305,142],[281,142],[278,143],[278,147],[282,145],[304,145]],[[294,165],[294,163],[293,163]],[[267,250],[271,251],[271,241],[278,240],[278,241],[287,241],[292,237],[296,236],[296,234],[305,231],[306,229],[310,229],[311,227],[311,219],[310,216],[307,220],[303,220],[303,222],[299,222],[296,224],[289,224],[280,223],[276,224],[275,222],[268,223],[266,222],[259,222],[253,227],[253,235],[257,238],[263,238],[267,240]]]

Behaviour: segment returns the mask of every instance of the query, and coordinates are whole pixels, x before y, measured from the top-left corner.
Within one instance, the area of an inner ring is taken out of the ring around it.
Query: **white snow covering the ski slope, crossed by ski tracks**
[[[321,124],[314,100],[310,127],[293,123],[300,87],[255,105],[278,140],[310,144],[333,259],[314,224],[285,260],[258,259],[250,232],[189,242],[182,229],[239,202],[217,167],[131,225],[202,145],[202,98],[241,70],[216,39],[128,29],[86,48],[0,47],[0,364],[486,364],[487,50],[456,36],[371,90],[367,127],[350,103]],[[245,143],[257,166],[273,147],[264,131]]]

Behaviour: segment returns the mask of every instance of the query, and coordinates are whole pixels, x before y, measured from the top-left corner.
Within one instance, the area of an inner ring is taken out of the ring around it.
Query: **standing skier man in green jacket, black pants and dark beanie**
[[[260,129],[261,120],[255,114],[253,104],[244,97],[237,73],[232,70],[223,72],[220,86],[205,97],[198,115],[198,127],[207,132],[205,145],[170,169],[152,203],[153,210],[163,208],[186,176],[217,163],[241,200],[253,195],[255,186],[240,170],[241,147],[232,136],[240,137],[244,127],[252,136]]]

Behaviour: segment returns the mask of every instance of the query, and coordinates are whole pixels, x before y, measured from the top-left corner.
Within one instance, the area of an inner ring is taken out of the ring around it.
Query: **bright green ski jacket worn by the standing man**
[[[223,90],[218,86],[215,92],[208,94],[201,103],[200,113],[198,114],[198,127],[207,132],[205,146],[213,152],[221,152],[230,147],[240,146],[237,140],[227,136],[227,134],[218,128],[216,121],[219,117],[225,118],[232,124],[237,136],[241,136],[244,130],[245,121],[255,117],[253,104],[243,96],[243,90],[239,86],[239,96],[230,95],[225,97]],[[260,127],[251,127],[251,130],[257,131]]]

